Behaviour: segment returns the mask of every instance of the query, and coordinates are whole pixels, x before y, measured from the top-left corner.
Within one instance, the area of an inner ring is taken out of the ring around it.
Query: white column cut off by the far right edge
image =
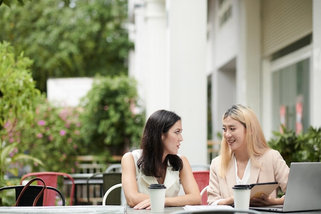
[[[310,124],[316,128],[321,126],[321,1],[313,0],[312,7],[313,52],[310,79]]]

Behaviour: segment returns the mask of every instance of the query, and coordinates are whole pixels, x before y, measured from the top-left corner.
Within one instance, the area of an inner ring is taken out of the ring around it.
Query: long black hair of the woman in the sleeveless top
[[[182,159],[178,155],[168,154],[162,162],[164,154],[162,134],[167,137],[168,130],[179,120],[180,117],[177,114],[167,110],[158,110],[147,120],[141,141],[143,152],[137,161],[138,168],[146,176],[162,177],[162,169],[168,162],[174,171],[183,168]]]

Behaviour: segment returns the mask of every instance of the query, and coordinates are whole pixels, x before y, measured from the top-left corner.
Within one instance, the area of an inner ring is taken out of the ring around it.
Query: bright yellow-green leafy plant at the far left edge
[[[33,120],[34,104],[41,96],[28,69],[31,64],[23,53],[16,57],[9,43],[0,43],[0,186],[7,171],[17,174],[13,164],[25,160],[42,164],[19,146],[23,144],[19,133]]]

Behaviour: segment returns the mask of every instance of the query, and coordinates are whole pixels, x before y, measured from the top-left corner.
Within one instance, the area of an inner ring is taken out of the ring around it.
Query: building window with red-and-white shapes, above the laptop
[[[310,59],[279,69],[272,74],[273,130],[280,124],[297,133],[309,128]]]

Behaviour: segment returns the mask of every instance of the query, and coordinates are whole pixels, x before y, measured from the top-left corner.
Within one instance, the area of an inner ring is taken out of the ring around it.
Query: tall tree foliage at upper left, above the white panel
[[[0,7],[0,41],[34,60],[33,79],[126,74],[125,0],[24,1]]]

